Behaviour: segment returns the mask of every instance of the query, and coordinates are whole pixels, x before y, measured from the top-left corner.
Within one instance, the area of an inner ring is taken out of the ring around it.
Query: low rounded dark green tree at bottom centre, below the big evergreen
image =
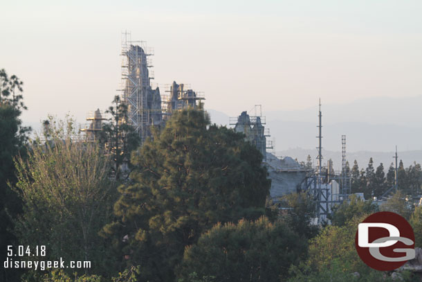
[[[214,281],[279,281],[303,258],[306,247],[306,240],[297,240],[282,221],[263,217],[217,224],[187,247],[178,281],[188,281],[193,272]]]

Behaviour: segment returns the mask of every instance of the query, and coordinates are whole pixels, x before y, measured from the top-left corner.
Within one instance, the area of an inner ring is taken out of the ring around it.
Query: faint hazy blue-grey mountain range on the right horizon
[[[405,98],[366,98],[347,104],[322,105],[322,147],[326,159],[341,164],[341,135],[347,136],[347,159],[366,167],[374,157],[388,167],[394,160],[394,148],[405,166],[422,163],[422,96]],[[213,123],[228,125],[223,112],[207,109]],[[239,113],[241,114],[241,113]],[[295,111],[265,112],[270,139],[275,140],[277,155],[304,161],[307,155],[318,155],[318,105]],[[303,148],[303,149],[302,149]],[[337,167],[338,164],[338,167]]]

